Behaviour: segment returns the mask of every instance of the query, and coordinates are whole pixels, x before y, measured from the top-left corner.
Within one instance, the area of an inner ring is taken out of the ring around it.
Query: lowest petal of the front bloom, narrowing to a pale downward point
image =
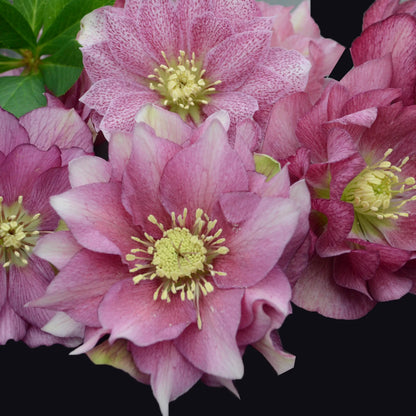
[[[162,415],[167,416],[169,402],[186,393],[202,375],[173,342],[159,342],[149,347],[132,345],[131,353],[137,367],[150,374],[150,384]]]

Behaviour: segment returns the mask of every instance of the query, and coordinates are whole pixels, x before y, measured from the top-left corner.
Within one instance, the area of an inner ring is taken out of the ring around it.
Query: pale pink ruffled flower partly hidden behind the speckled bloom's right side
[[[322,91],[327,77],[341,57],[344,47],[332,39],[321,36],[319,26],[311,17],[310,1],[293,7],[270,5],[258,2],[263,16],[273,19],[271,45],[297,50],[311,63],[305,91],[315,102]]]

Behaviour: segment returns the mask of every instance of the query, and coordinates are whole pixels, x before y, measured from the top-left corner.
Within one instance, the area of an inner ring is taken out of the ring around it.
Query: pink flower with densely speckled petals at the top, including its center
[[[146,103],[195,124],[225,109],[235,125],[307,84],[309,62],[271,47],[271,36],[254,0],[130,0],[95,10],[79,36],[93,83],[81,101],[101,115],[104,132],[130,131]]]

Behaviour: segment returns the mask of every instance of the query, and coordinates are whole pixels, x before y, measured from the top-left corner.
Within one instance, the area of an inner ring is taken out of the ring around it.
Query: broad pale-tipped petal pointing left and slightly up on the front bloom
[[[130,252],[131,236],[138,232],[121,205],[120,184],[74,188],[53,196],[51,205],[85,248],[109,254]]]

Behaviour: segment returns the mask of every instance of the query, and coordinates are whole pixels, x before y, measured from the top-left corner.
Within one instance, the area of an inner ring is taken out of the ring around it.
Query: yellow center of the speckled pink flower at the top
[[[179,51],[176,59],[168,60],[165,52],[161,52],[165,64],[154,69],[154,74],[148,76],[151,80],[149,88],[157,91],[162,97],[164,106],[178,113],[183,120],[190,115],[195,123],[200,121],[200,107],[208,104],[209,96],[215,92],[215,85],[207,82],[203,75],[205,69],[195,61],[195,53],[192,58],[186,56],[185,51]]]

